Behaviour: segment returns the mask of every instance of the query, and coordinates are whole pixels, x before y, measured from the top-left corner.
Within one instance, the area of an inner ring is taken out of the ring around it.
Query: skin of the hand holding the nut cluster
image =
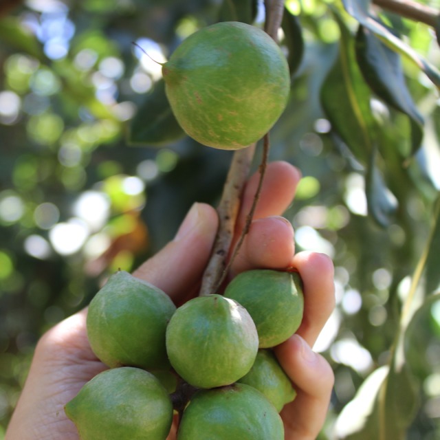
[[[292,404],[281,412],[286,440],[316,439],[327,415],[334,382],[329,364],[310,348],[335,305],[333,263],[324,254],[295,254],[292,225],[279,217],[292,203],[299,179],[299,171],[285,162],[273,162],[267,167],[252,227],[231,270],[234,276],[252,268],[293,266],[304,281],[303,323],[292,338],[275,349],[298,392]],[[257,181],[258,176],[254,175],[245,188],[236,238],[245,223]],[[195,203],[175,239],[133,274],[164,290],[177,305],[184,303],[197,292],[216,230],[215,210]],[[170,270],[173,276],[169,276]],[[52,327],[39,340],[5,440],[79,439],[63,406],[85,382],[106,369],[90,349],[86,316],[84,309]],[[168,437],[174,439],[175,426]]]

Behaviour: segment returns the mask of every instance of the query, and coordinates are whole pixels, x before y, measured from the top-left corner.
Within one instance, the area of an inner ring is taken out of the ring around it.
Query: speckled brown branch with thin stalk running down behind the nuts
[[[265,31],[278,42],[278,28],[281,26],[283,19],[284,1],[283,0],[265,0],[266,21]],[[268,142],[268,137],[267,137]],[[268,151],[268,146],[265,146],[265,151]],[[223,194],[221,201],[217,207],[219,214],[219,230],[212,248],[210,261],[206,266],[201,280],[201,288],[199,296],[206,296],[214,294],[221,285],[222,280],[228,270],[226,261],[230,252],[232,238],[234,236],[236,217],[239,212],[241,195],[248,179],[249,170],[254,158],[255,144],[234,152],[228,177],[223,187]],[[267,162],[267,155],[263,162]],[[265,170],[265,163],[260,167],[261,179],[259,187],[263,181]],[[245,234],[247,234],[250,222],[252,221],[253,211],[255,210],[256,200],[259,197],[259,192],[256,194],[254,205],[251,208],[250,215],[246,221],[247,227],[244,228],[239,244],[234,250],[234,254],[238,253],[239,246],[243,242]],[[234,257],[232,257],[233,259]],[[232,261],[232,260],[231,260]]]

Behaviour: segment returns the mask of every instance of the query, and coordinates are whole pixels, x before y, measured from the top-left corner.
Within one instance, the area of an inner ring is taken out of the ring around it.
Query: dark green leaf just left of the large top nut
[[[165,94],[163,80],[155,83],[153,90],[131,121],[129,144],[161,146],[184,137]]]

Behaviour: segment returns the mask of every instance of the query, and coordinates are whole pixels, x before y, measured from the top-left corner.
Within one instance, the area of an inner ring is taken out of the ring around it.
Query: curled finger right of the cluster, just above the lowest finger
[[[304,317],[296,333],[313,347],[335,307],[333,262],[316,252],[299,252],[292,260],[304,283]]]

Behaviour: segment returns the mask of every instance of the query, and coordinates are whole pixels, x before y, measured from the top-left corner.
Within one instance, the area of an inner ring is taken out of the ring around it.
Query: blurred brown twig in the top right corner
[[[432,28],[437,27],[439,22],[438,10],[431,8],[428,5],[423,5],[414,0],[373,0],[377,6],[386,9],[391,12],[399,14],[401,17],[412,19],[414,21],[420,21]]]

